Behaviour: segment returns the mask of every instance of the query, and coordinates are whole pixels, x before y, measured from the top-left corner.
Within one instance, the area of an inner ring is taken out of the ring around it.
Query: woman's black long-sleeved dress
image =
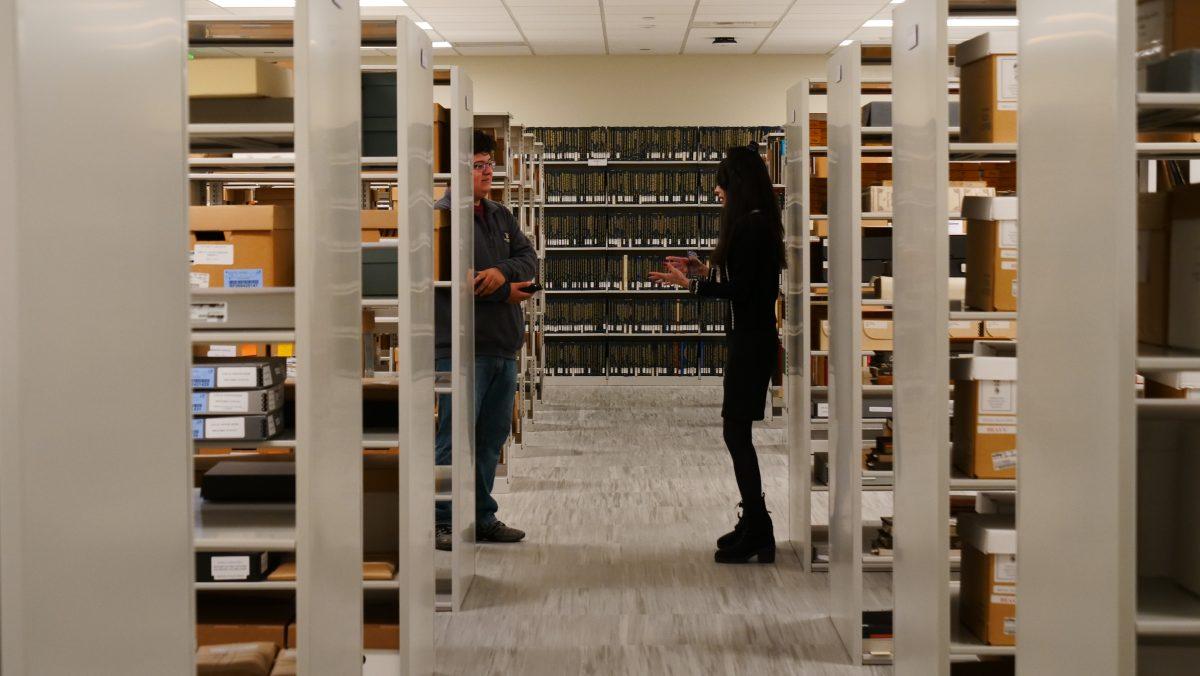
[[[767,390],[779,366],[775,301],[779,298],[780,246],[767,217],[752,211],[733,227],[727,261],[709,270],[707,280],[692,283],[692,292],[730,301],[725,325],[725,400],[721,417],[730,420],[762,420]]]

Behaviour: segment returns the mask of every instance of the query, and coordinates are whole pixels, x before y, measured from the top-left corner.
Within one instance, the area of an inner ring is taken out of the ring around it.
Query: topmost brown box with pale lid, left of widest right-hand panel
[[[985,32],[958,46],[962,143],[1016,143],[1016,34]]]

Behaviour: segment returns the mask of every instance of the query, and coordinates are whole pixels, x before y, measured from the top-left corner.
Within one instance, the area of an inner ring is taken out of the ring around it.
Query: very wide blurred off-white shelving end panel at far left
[[[5,674],[194,669],[182,22],[0,1]]]

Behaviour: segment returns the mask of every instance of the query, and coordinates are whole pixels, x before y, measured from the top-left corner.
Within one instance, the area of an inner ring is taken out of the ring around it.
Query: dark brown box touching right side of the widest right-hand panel
[[[1171,219],[1165,192],[1138,196],[1138,341],[1166,345]]]

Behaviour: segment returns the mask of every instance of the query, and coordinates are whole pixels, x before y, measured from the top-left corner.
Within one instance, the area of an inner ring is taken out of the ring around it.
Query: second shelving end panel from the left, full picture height
[[[300,670],[362,662],[361,23],[295,13],[296,630]]]

